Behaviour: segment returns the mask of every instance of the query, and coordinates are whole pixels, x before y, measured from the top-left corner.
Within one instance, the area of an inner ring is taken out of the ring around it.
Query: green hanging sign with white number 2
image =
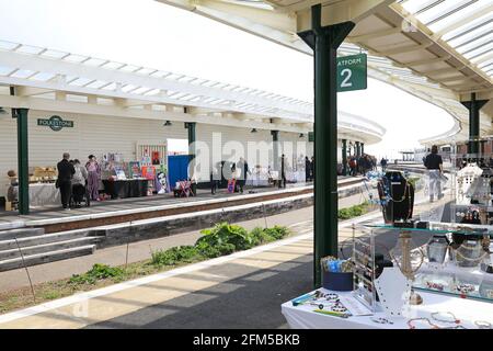
[[[337,92],[367,87],[366,54],[337,57]]]

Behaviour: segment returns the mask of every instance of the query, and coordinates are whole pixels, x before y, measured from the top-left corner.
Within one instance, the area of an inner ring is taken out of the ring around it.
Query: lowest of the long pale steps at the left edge
[[[62,249],[56,251],[48,251],[43,253],[24,256],[25,265],[36,265],[54,261],[66,260],[79,256],[92,254],[94,253],[95,245],[85,245],[70,249]],[[0,272],[14,270],[23,268],[22,258],[18,257],[14,259],[0,261]]]

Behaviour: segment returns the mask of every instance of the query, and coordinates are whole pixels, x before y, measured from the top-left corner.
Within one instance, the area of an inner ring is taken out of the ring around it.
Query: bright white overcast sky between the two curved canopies
[[[0,0],[0,39],[313,98],[312,57],[153,0]],[[387,128],[365,150],[391,157],[446,132],[444,110],[369,79],[339,110]]]

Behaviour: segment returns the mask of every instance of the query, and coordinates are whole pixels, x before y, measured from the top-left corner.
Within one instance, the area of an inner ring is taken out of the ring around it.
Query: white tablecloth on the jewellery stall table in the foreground
[[[336,293],[355,299],[348,292],[331,292],[324,288],[324,293]],[[427,317],[432,322],[440,327],[452,327],[455,324],[439,322],[431,317],[434,312],[451,312],[456,318],[461,320],[461,326],[467,329],[478,329],[474,320],[489,321],[493,325],[493,304],[459,297],[449,297],[426,292],[419,292],[423,297],[423,304],[411,307],[411,318]],[[382,312],[374,316],[352,316],[348,318],[333,317],[314,313],[312,305],[293,306],[291,302],[282,305],[282,313],[294,329],[409,329],[405,318],[393,318],[393,325],[377,324],[371,317],[388,318]],[[389,319],[389,318],[388,318]],[[423,328],[426,322],[415,322],[416,329]]]

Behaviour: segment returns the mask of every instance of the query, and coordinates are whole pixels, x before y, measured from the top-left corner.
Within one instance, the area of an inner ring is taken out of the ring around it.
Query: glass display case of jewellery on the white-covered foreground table
[[[493,303],[493,227],[454,223],[422,223],[421,226],[366,225],[356,231],[359,236],[372,238],[370,242],[377,256],[378,247],[383,247],[379,241],[387,242],[394,265],[413,280],[415,292]],[[395,248],[401,248],[400,242],[405,236],[408,244],[412,242],[409,252],[392,256]],[[393,249],[390,248],[392,245],[395,245]]]

